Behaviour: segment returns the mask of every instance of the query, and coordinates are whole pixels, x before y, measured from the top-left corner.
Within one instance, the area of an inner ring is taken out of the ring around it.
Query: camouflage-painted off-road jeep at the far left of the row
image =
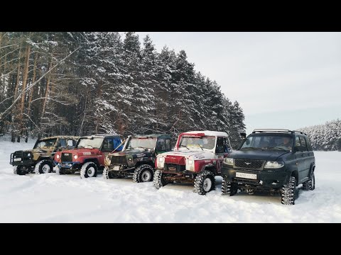
[[[75,147],[79,137],[55,136],[38,139],[33,149],[11,153],[10,164],[14,174],[46,174],[53,172],[53,157],[56,152]]]

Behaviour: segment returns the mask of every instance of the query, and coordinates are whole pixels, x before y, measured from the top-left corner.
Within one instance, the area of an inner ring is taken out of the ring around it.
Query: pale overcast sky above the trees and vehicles
[[[247,133],[341,118],[341,33],[139,32],[158,52],[185,50],[195,70],[238,101]]]

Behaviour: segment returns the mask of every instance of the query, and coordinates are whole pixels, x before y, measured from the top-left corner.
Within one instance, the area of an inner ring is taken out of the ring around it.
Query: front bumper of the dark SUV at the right
[[[237,177],[237,172],[242,174],[256,174],[256,179]],[[284,184],[288,183],[290,176],[291,173],[286,171],[285,167],[281,169],[263,169],[261,171],[222,167],[222,177],[229,182],[238,183],[238,186],[247,185],[264,189],[281,188]]]

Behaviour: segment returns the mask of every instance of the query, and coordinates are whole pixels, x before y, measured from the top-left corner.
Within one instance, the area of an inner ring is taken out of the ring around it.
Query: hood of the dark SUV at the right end
[[[283,154],[288,152],[272,149],[259,149],[259,150],[239,150],[229,154],[230,158],[234,159],[261,159],[261,160],[277,160]]]

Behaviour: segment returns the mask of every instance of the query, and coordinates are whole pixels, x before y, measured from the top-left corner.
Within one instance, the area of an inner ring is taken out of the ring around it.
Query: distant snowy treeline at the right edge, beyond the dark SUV
[[[314,150],[341,150],[341,120],[332,120],[324,125],[313,125],[299,129],[305,132]]]

